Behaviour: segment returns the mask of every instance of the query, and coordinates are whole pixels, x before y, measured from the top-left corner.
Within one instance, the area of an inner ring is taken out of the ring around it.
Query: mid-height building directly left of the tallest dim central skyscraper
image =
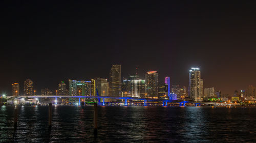
[[[95,89],[98,90],[99,96],[108,96],[109,82],[106,78],[95,79]]]

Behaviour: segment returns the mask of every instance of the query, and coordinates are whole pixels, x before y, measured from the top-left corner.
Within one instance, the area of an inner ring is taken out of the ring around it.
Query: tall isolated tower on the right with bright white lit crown
[[[193,101],[202,101],[203,95],[203,79],[199,68],[191,68],[189,70],[189,88],[188,96]]]

